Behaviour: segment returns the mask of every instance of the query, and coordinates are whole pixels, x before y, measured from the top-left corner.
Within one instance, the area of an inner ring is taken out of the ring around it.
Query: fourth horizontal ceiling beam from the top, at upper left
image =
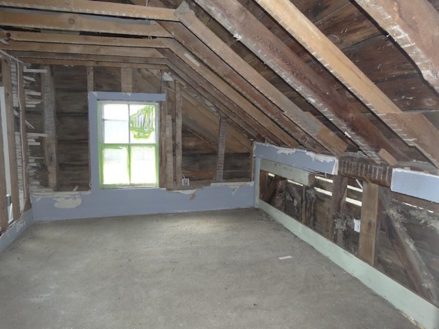
[[[133,48],[117,46],[96,46],[96,45],[61,45],[46,44],[43,42],[21,42],[10,41],[9,45],[0,43],[0,49],[4,51],[42,51],[48,53],[78,53],[88,55],[109,55],[124,57],[163,58],[155,48]]]

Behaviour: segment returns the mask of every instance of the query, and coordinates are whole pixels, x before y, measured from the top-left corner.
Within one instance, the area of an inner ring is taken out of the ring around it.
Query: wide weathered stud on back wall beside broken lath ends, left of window
[[[55,109],[55,85],[51,66],[45,65],[46,73],[41,74],[41,90],[44,101],[44,129],[45,138],[45,161],[48,171],[48,185],[54,191],[58,190],[58,152],[56,141],[56,109]]]

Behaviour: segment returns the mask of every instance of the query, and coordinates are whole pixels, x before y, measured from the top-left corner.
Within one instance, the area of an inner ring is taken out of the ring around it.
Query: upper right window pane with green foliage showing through
[[[130,104],[130,143],[156,143],[156,104]]]

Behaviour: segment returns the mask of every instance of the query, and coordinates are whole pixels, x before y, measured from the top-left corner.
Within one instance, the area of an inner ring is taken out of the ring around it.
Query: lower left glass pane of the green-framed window
[[[102,149],[102,184],[130,184],[127,147]]]

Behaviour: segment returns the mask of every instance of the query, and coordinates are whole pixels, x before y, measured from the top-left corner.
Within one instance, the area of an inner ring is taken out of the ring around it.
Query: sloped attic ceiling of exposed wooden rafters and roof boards
[[[438,167],[438,0],[108,2],[0,1],[0,48],[169,72],[188,122],[214,113],[250,141]]]

